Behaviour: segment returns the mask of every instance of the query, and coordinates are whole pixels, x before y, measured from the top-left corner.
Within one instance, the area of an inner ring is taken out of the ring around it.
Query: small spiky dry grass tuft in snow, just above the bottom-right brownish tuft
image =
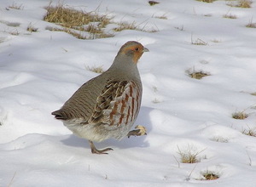
[[[201,150],[201,151],[198,151],[198,152],[195,152],[192,150],[192,148],[190,146],[188,146],[188,149],[187,150],[180,150],[179,147],[177,146],[177,153],[181,156],[181,159],[180,161],[182,163],[196,163],[196,162],[200,162],[201,159],[198,158],[199,154],[204,151],[204,150]]]

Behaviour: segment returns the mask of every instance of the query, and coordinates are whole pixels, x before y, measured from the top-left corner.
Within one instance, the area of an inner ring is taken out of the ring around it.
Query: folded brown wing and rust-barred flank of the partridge
[[[97,98],[89,123],[102,122],[109,126],[131,124],[137,118],[142,91],[135,82],[108,81]]]

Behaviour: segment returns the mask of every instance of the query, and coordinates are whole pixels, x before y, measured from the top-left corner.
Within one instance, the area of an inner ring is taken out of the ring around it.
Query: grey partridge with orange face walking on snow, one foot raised
[[[97,150],[93,142],[147,134],[140,125],[130,130],[143,94],[137,63],[148,51],[140,42],[125,42],[107,71],[85,82],[60,110],[51,113],[74,135],[89,140],[91,153],[108,154],[113,150]]]

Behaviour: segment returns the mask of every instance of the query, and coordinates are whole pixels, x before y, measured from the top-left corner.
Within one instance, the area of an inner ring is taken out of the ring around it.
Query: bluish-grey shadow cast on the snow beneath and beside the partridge
[[[137,116],[137,121],[135,122],[135,125],[133,127],[136,127],[137,125],[142,125],[146,127],[147,134],[150,133],[152,130],[152,123],[149,118],[149,112],[152,111],[151,108],[142,106],[141,110]],[[131,130],[133,130],[131,128]],[[125,137],[124,139],[121,139],[120,141],[116,139],[107,139],[101,143],[95,143],[96,148],[102,149],[104,147],[117,147],[119,149],[127,149],[131,147],[148,147],[150,144],[148,143],[148,140],[146,139],[146,136],[138,136],[138,137]],[[80,139],[79,137],[75,135],[70,135],[67,139],[62,139],[61,142],[63,144],[66,144],[68,146],[73,147],[84,147],[90,149],[90,144],[85,139]]]

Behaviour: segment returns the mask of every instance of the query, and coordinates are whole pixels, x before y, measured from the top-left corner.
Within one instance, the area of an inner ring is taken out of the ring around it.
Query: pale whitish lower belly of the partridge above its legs
[[[123,139],[129,133],[133,123],[119,126],[101,124],[78,124],[63,122],[73,134],[83,139],[101,142],[105,139]]]

